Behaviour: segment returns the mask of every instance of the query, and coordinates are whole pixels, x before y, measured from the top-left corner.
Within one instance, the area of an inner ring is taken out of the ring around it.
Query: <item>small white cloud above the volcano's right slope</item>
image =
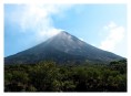
[[[101,42],[100,49],[113,52],[117,45],[124,39],[125,30],[123,26],[119,26],[114,22],[110,22],[103,29],[107,30],[108,36]]]

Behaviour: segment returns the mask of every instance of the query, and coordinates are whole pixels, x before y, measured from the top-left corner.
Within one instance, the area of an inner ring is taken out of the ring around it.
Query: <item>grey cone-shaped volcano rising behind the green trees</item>
[[[123,57],[97,49],[68,32],[60,32],[46,42],[4,58],[6,64],[33,64],[54,61],[59,64],[81,62],[108,63]]]

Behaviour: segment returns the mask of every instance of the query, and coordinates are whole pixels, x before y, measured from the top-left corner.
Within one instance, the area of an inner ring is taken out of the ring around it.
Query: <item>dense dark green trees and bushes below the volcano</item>
[[[6,65],[4,92],[127,92],[127,61]]]

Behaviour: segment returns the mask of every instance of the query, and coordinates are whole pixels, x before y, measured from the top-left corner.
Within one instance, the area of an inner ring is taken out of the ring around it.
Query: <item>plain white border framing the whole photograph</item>
[[[130,35],[131,35],[131,0],[0,0],[0,95],[1,96],[23,96],[23,95],[33,95],[33,96],[42,96],[42,95],[53,95],[53,96],[68,96],[68,95],[75,95],[75,96],[123,96],[130,95],[131,90],[131,44],[130,44]],[[3,92],[3,18],[4,18],[4,9],[3,6],[6,3],[124,3],[128,7],[128,92],[127,93],[4,93]],[[131,95],[130,95],[131,96]]]

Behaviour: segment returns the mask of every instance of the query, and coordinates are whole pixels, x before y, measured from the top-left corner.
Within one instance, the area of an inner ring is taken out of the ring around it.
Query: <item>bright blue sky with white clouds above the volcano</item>
[[[4,56],[61,30],[127,57],[125,4],[4,4]]]

